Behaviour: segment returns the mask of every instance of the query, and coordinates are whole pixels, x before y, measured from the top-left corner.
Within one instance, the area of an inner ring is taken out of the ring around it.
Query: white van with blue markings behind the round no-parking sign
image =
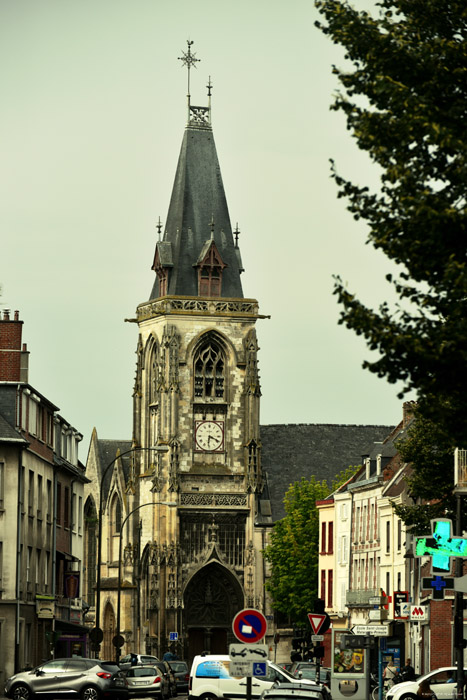
[[[269,690],[275,681],[278,683],[299,683],[315,685],[312,681],[291,676],[285,669],[272,661],[267,662],[266,676],[251,679],[251,697],[259,698],[264,690]],[[230,656],[206,654],[195,656],[190,671],[188,685],[189,700],[212,700],[213,698],[245,698],[246,678],[230,675]]]

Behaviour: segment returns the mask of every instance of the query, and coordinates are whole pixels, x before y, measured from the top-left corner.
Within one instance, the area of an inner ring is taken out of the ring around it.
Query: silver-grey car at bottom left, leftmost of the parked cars
[[[128,689],[115,662],[74,657],[51,659],[31,671],[16,673],[5,681],[5,695],[13,700],[31,700],[35,695],[127,700]]]

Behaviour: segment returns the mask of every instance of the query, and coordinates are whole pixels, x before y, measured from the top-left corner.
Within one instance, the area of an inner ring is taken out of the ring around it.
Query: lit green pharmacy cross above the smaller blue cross
[[[415,556],[431,556],[433,572],[450,571],[451,557],[467,557],[467,538],[451,532],[452,521],[439,518],[431,521],[431,537],[415,537]]]

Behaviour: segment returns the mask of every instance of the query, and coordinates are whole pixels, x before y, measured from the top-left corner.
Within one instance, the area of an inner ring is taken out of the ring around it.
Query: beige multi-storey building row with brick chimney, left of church
[[[28,382],[18,312],[0,318],[0,685],[86,650],[82,436]]]

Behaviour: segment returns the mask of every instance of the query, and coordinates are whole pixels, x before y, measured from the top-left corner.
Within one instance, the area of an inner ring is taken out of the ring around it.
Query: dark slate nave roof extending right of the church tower
[[[266,474],[272,521],[285,515],[284,496],[302,477],[326,480],[349,466],[361,464],[394,426],[294,424],[262,425],[262,465]]]

